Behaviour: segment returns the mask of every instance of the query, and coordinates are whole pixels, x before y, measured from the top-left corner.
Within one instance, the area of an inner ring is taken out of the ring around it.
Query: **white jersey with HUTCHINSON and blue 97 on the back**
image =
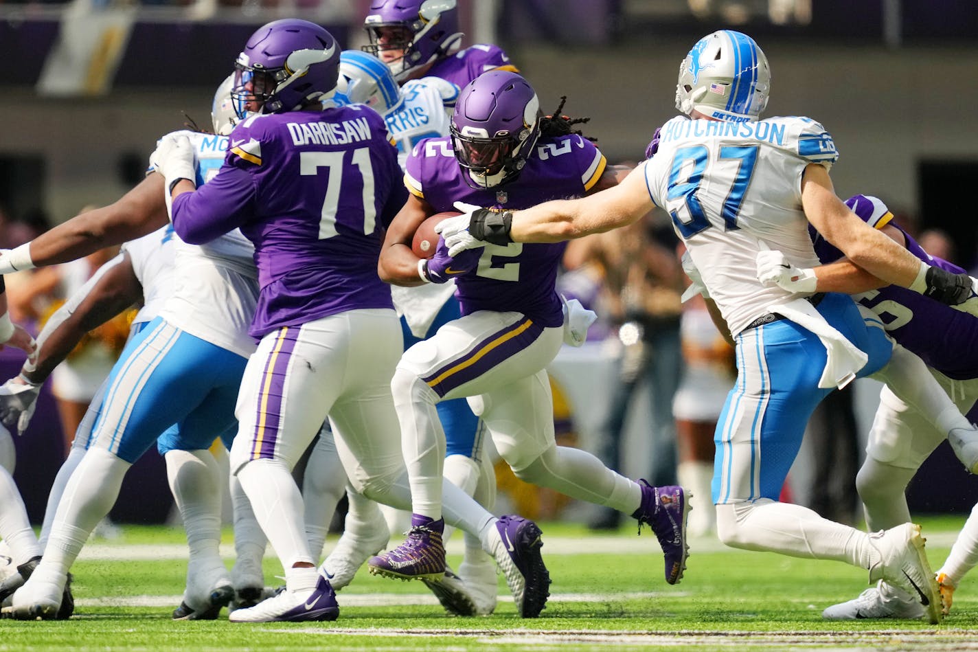
[[[757,280],[757,254],[780,250],[795,265],[819,258],[801,206],[809,163],[838,159],[832,137],[807,117],[747,122],[678,116],[660,131],[645,183],[676,232],[736,335],[768,307],[793,297]]]

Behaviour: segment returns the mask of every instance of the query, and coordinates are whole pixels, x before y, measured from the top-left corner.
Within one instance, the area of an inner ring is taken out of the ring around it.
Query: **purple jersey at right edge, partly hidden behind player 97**
[[[864,221],[869,219],[868,213],[862,210],[856,210],[856,214]],[[964,271],[956,264],[927,254],[909,233],[893,221],[874,225],[881,228],[886,224],[903,232],[907,238],[907,249],[913,256],[953,273]],[[822,263],[842,257],[842,252],[826,242],[814,229],[809,229],[809,233],[815,253]],[[886,332],[905,349],[916,353],[928,366],[955,380],[978,378],[978,318],[897,285],[888,285],[853,299],[875,312]]]

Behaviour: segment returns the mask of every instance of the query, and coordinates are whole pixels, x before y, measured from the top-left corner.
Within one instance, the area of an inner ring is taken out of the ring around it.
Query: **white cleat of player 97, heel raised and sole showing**
[[[869,535],[869,544],[879,553],[879,561],[869,567],[869,582],[886,580],[907,591],[927,613],[928,620],[941,622],[941,592],[924,552],[920,526],[905,523]]]

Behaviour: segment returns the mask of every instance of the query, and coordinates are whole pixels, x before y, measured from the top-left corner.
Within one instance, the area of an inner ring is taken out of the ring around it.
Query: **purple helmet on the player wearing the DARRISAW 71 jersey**
[[[251,34],[235,62],[235,112],[277,114],[329,93],[339,74],[339,46],[316,23],[284,19]]]

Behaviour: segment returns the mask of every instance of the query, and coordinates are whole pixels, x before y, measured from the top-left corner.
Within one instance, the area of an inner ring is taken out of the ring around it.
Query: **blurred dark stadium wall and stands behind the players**
[[[642,157],[655,126],[675,114],[679,63],[721,27],[754,36],[772,65],[768,116],[812,116],[833,135],[841,197],[875,194],[954,238],[962,264],[978,252],[966,188],[978,176],[978,7],[953,0],[460,0],[465,44],[496,42],[536,88],[545,111],[591,116],[586,133],[613,162]],[[209,123],[216,84],[253,29],[299,17],[324,24],[346,47],[364,41],[369,0],[102,0],[0,3],[0,206],[45,210],[54,221],[107,204],[142,177],[156,138],[185,116]],[[742,21],[742,22],[740,22]],[[0,353],[0,373],[16,373]],[[860,389],[861,430],[875,389]],[[572,393],[571,393],[572,394]],[[571,416],[600,407],[578,401]],[[642,415],[630,442],[641,448]],[[47,425],[45,425],[47,424]],[[17,479],[35,520],[60,459],[57,418],[42,396],[18,440]],[[169,496],[151,451],[129,474],[143,500],[113,516],[165,513]],[[641,458],[641,455],[633,456]],[[804,467],[804,456],[800,466]],[[636,469],[641,473],[642,469]],[[804,473],[800,468],[798,473]],[[966,511],[978,497],[949,451],[915,482],[911,507]]]

